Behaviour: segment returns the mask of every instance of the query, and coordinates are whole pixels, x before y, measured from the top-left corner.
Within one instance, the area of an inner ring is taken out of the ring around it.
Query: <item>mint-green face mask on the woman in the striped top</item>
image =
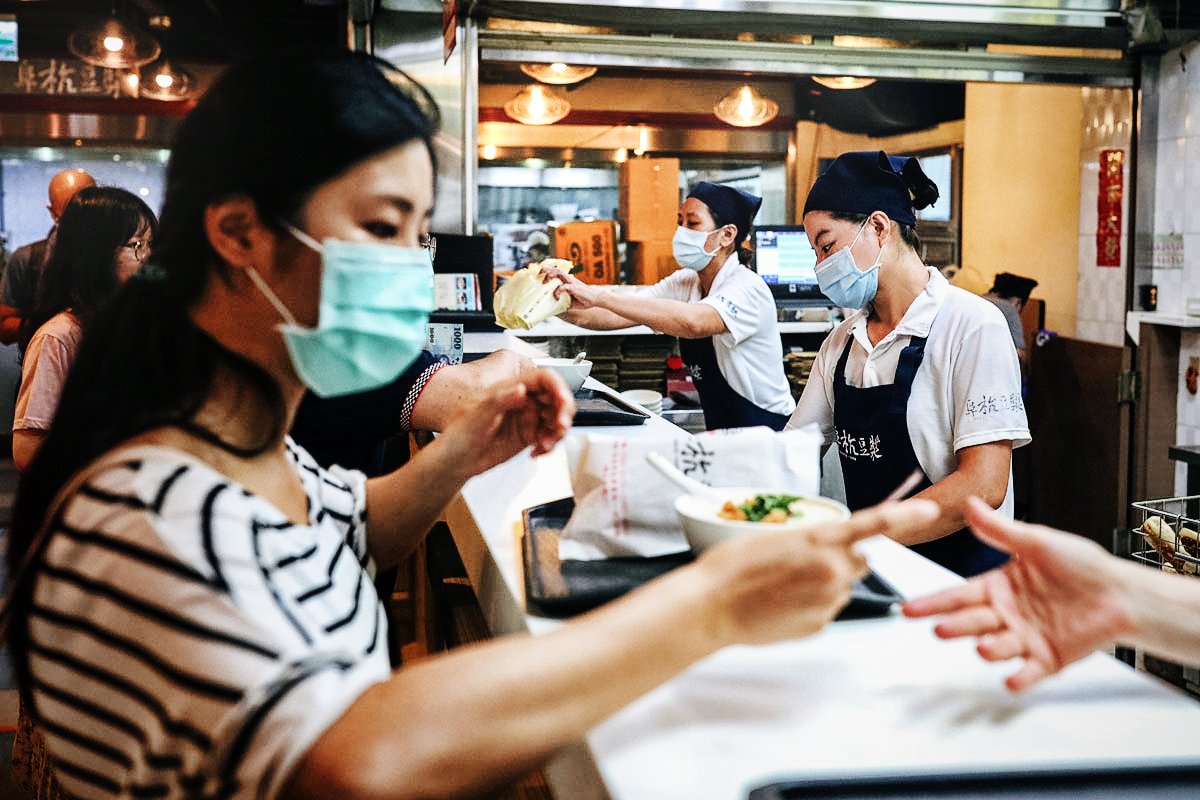
[[[248,275],[283,318],[280,332],[300,380],[320,397],[384,386],[421,353],[433,311],[433,265],[420,247],[312,236],[283,225],[320,253],[320,317],[305,327],[262,276]]]

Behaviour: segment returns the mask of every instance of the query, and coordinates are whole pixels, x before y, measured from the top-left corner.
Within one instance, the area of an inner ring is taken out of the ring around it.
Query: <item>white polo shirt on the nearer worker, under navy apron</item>
[[[958,468],[964,447],[1012,440],[1030,443],[1021,399],[1021,369],[1003,314],[970,291],[953,287],[936,269],[895,330],[875,345],[866,336],[866,309],[848,317],[821,344],[808,386],[787,428],[811,422],[833,444],[833,378],[847,337],[846,383],[868,389],[895,381],[900,351],[913,337],[926,337],[925,357],[908,397],[908,435],[929,480]],[[1013,515],[1013,477],[1001,511]]]

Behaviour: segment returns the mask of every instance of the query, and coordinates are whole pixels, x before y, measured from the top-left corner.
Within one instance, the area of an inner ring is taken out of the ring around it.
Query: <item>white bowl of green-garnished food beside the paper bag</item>
[[[850,517],[850,509],[836,500],[822,497],[806,497],[802,500],[804,515],[787,522],[746,522],[726,519],[720,516],[721,506],[727,500],[740,504],[756,494],[778,494],[763,492],[761,488],[721,487],[713,494],[683,494],[676,500],[676,513],[683,523],[683,533],[691,549],[700,553],[704,548],[733,536],[762,533],[767,530],[798,530],[811,525],[841,522]]]

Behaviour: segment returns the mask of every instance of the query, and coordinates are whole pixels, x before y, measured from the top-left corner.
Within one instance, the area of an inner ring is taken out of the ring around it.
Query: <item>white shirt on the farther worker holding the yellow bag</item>
[[[713,337],[716,365],[733,391],[773,414],[796,409],[784,374],[784,343],[779,337],[775,299],[766,282],[742,266],[737,253],[716,273],[708,296],[700,290],[700,273],[679,269],[638,291],[644,297],[702,302],[716,309],[727,329]]]

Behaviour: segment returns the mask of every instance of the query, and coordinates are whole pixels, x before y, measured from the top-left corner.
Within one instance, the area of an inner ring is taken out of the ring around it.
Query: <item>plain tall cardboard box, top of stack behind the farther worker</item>
[[[679,218],[679,160],[631,158],[617,170],[617,219],[625,241],[671,239]]]

